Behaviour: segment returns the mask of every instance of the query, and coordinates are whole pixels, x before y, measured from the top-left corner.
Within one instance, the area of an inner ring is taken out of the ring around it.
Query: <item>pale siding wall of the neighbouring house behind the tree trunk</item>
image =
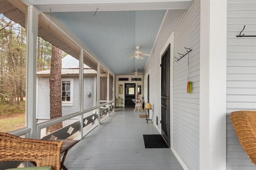
[[[66,78],[66,77],[65,77]],[[73,85],[73,106],[62,106],[62,115],[68,115],[79,111],[79,79],[74,78]],[[84,109],[94,105],[94,77],[84,77]],[[87,92],[91,92],[90,98]],[[38,78],[38,107],[37,119],[50,119],[50,84],[49,77]]]

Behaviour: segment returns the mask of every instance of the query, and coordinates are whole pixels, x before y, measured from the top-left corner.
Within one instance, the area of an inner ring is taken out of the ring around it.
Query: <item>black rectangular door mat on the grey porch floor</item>
[[[169,148],[162,135],[143,135],[145,148]]]

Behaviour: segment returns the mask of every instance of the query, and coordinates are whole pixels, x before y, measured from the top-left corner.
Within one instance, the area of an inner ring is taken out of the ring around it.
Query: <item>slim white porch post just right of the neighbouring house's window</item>
[[[80,49],[80,58],[79,58],[79,108],[82,112],[84,110],[84,50]],[[83,137],[83,114],[79,116],[80,122],[80,131],[78,131],[78,137],[82,139]]]

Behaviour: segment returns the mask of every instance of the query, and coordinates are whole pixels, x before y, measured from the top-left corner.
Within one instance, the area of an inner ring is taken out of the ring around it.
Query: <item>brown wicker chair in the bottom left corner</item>
[[[63,142],[20,138],[0,132],[0,161],[30,161],[60,170]]]

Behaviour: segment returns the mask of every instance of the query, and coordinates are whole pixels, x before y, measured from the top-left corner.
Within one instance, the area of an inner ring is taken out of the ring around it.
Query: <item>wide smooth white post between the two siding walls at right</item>
[[[225,170],[227,0],[200,8],[200,170]]]

